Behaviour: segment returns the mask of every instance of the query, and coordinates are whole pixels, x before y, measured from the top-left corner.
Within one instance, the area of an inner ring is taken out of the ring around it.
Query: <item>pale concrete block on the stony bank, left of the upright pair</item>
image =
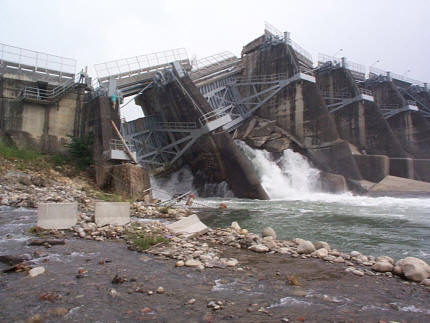
[[[78,203],[41,203],[37,226],[44,229],[70,229],[78,221]]]

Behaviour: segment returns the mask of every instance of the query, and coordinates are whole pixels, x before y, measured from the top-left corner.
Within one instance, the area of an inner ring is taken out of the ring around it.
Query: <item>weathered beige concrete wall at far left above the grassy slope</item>
[[[31,147],[44,153],[63,153],[68,135],[76,135],[76,120],[83,106],[84,88],[67,93],[52,104],[20,101],[24,86],[36,86],[25,75],[8,74],[0,78],[0,135],[19,147]]]

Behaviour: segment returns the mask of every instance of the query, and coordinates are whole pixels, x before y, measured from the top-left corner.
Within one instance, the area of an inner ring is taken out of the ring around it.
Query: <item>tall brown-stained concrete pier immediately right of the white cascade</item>
[[[245,47],[246,48],[246,47]],[[242,57],[245,76],[296,74],[299,65],[293,49],[284,43],[260,46]],[[262,86],[257,90],[264,89]],[[250,90],[243,90],[247,96]],[[329,115],[316,84],[293,83],[280,91],[256,114],[275,120],[304,147],[303,154],[321,170],[361,179],[348,144],[340,140],[336,125]]]

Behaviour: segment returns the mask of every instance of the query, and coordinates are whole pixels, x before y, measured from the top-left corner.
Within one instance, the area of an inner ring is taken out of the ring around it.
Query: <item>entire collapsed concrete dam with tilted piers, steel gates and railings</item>
[[[1,61],[2,137],[58,153],[69,135],[90,135],[98,185],[135,198],[148,194],[150,173],[187,166],[201,196],[227,185],[268,199],[235,139],[273,156],[299,152],[331,192],[364,193],[389,175],[430,181],[427,84],[346,58],[320,55],[315,66],[269,24],[241,57],[190,61],[175,49],[97,64],[95,80],[24,65]],[[120,109],[133,98],[144,117],[125,122]]]

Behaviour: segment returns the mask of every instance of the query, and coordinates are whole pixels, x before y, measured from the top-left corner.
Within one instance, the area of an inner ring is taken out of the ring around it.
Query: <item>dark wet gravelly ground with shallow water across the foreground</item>
[[[318,259],[230,248],[225,256],[243,270],[177,268],[123,242],[27,246],[25,231],[34,222],[34,211],[0,211],[0,254],[38,251],[46,269],[35,278],[0,276],[1,322],[430,322],[429,291],[398,278],[358,277]],[[115,275],[125,281],[112,283]],[[164,293],[156,292],[160,286]],[[221,309],[208,308],[210,301]]]

